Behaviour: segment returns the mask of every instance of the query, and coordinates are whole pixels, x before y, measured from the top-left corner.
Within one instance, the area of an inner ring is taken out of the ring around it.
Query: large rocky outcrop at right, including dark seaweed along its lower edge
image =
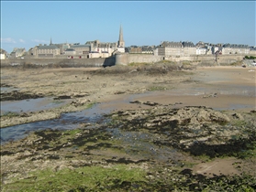
[[[251,128],[253,125],[241,122],[241,114],[225,114],[203,106],[173,109],[157,105],[149,110],[115,112],[112,118],[117,123],[115,127],[156,133],[161,136],[153,139],[154,144],[172,146],[195,155],[216,156],[239,151],[237,144],[245,147],[245,141],[250,143],[253,139],[250,132],[255,132],[255,127]]]

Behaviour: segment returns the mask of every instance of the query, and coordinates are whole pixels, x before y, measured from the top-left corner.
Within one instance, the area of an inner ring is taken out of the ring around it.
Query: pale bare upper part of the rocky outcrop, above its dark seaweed
[[[140,103],[150,106],[158,105],[157,102],[150,101],[131,101],[131,103]],[[142,110],[120,111],[117,113],[118,115],[128,115],[129,121],[138,120],[145,115],[150,115],[150,117],[154,116],[154,118],[148,121],[148,126],[156,126],[173,122],[176,122],[177,124],[199,125],[202,123],[228,123],[230,121],[226,114],[206,107],[184,107],[181,109],[172,109],[164,106],[158,106],[150,110],[150,112]]]

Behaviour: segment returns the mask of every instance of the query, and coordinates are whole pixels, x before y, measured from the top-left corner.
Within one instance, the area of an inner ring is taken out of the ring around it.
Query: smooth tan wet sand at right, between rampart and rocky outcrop
[[[216,110],[244,112],[256,110],[255,69],[204,67],[197,68],[194,72],[190,83],[181,83],[173,90],[113,96],[103,100],[106,102],[104,106],[116,110],[146,107],[128,103],[139,100],[154,101],[162,105],[173,104],[173,107],[207,106]]]

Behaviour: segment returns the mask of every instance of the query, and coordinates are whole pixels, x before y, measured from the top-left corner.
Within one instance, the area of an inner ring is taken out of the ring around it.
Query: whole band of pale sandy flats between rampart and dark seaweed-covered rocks
[[[114,69],[114,72],[108,74],[107,69]],[[132,73],[133,69],[119,73],[115,68],[107,69],[1,69],[1,83],[20,89],[21,93],[44,97],[67,96],[72,98],[75,106],[101,102],[101,109],[107,112],[149,108],[147,105],[129,103],[136,100],[173,104],[173,107],[207,106],[217,110],[245,112],[256,108],[255,68],[198,67],[165,74]],[[102,72],[95,73],[97,70]],[[68,109],[55,110],[56,114],[52,115],[52,109],[49,114],[48,110],[41,111],[45,104],[34,103],[35,109],[29,113],[29,117],[1,117],[1,127],[52,119],[61,112],[83,109],[70,105]],[[10,108],[10,111],[15,109]]]

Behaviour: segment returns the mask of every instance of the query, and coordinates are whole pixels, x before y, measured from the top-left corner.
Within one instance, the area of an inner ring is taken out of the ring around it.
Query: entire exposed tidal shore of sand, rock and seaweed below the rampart
[[[95,102],[97,123],[1,146],[3,191],[256,189],[255,71],[161,63],[106,69],[1,69],[2,101],[72,99],[1,114],[1,127],[58,118]],[[254,90],[253,90],[254,89]]]

